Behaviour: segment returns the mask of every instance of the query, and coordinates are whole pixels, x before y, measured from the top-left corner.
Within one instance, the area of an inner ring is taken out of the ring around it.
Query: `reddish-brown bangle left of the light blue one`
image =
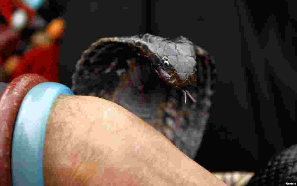
[[[0,97],[0,186],[10,186],[11,141],[15,119],[26,93],[42,82],[38,74],[23,74],[12,80]]]

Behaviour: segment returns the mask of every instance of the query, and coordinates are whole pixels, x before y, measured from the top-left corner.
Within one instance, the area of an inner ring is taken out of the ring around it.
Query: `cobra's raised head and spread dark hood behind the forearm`
[[[214,58],[184,36],[103,37],[76,62],[72,90],[119,104],[194,159],[209,117],[215,67]]]

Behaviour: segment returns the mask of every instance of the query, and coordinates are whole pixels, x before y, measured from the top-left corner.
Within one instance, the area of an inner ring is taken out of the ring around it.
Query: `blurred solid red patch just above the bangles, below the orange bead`
[[[59,81],[60,40],[47,46],[37,46],[27,51],[10,80],[27,73],[39,74],[50,82]]]

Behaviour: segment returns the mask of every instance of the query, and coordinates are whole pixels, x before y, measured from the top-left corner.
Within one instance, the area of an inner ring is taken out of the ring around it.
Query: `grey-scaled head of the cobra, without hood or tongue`
[[[161,40],[154,53],[158,56],[152,64],[159,77],[173,88],[194,85],[197,62],[195,45],[180,36],[173,40]]]

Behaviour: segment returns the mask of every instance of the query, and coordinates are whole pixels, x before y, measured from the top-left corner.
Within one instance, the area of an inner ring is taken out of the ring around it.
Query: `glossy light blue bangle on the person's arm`
[[[24,97],[12,139],[12,185],[43,186],[44,136],[50,109],[59,95],[74,95],[67,86],[44,82]]]

